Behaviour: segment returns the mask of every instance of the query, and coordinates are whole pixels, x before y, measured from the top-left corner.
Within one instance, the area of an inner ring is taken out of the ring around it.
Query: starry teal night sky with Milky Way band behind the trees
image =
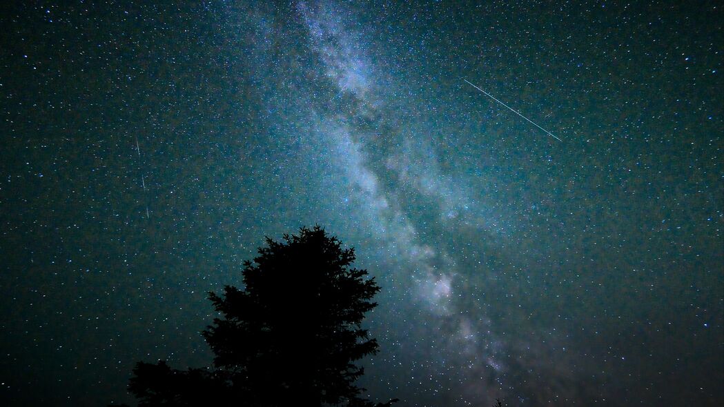
[[[17,3],[1,405],[208,366],[206,293],[316,223],[382,287],[377,400],[724,402],[720,1]]]

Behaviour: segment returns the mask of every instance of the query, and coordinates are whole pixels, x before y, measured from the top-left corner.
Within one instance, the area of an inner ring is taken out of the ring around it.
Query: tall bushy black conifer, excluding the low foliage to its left
[[[210,295],[223,316],[203,332],[215,366],[245,387],[306,394],[315,404],[357,395],[353,381],[363,369],[351,362],[376,353],[360,324],[379,287],[366,270],[350,268],[354,260],[353,248],[320,227],[283,242],[267,238],[244,263],[245,290]]]

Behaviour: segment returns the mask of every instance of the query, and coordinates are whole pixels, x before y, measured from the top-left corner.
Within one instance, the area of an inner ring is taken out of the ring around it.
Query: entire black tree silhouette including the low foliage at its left
[[[353,248],[319,226],[266,238],[245,261],[244,289],[210,293],[221,314],[203,331],[216,355],[212,369],[171,369],[139,362],[128,390],[139,406],[390,406],[360,397],[355,361],[377,352],[361,328],[379,292]]]

